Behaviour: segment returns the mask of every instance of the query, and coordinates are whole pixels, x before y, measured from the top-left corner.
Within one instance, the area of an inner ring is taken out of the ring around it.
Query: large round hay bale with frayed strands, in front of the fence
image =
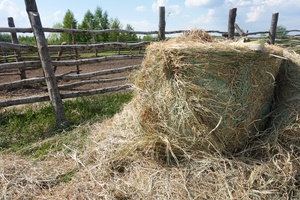
[[[264,128],[282,59],[268,49],[188,38],[147,48],[132,108],[140,110],[143,135],[168,140],[158,146],[179,157],[240,150]]]

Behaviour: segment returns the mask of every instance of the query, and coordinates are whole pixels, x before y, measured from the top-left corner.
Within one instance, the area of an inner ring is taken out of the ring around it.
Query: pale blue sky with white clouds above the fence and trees
[[[44,27],[62,22],[70,9],[80,23],[87,10],[97,6],[136,31],[158,27],[158,6],[166,7],[166,29],[227,30],[228,11],[237,8],[236,22],[249,32],[267,31],[272,13],[279,12],[279,25],[300,29],[300,0],[36,0]],[[16,27],[30,27],[24,0],[0,0],[0,26],[13,17]]]

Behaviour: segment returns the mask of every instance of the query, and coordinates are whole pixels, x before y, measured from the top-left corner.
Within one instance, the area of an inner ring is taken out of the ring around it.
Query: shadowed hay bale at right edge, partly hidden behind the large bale
[[[288,148],[300,145],[300,55],[283,52],[282,62],[276,77],[273,110],[265,135],[270,142],[280,142]],[[298,150],[299,151],[299,150]]]

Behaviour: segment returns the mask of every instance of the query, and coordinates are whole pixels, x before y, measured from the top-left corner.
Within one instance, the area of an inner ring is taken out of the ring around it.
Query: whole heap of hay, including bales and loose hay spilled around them
[[[150,45],[132,76],[132,101],[95,125],[85,152],[72,154],[72,181],[39,195],[300,198],[300,93],[291,80],[300,80],[300,57],[249,45],[202,31]]]

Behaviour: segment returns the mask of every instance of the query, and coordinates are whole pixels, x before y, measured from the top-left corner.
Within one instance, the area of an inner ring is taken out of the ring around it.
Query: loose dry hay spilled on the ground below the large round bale
[[[111,120],[95,126],[87,144],[89,151],[80,158],[84,167],[71,182],[52,189],[49,197],[181,200],[299,197],[297,157],[280,147],[265,162],[209,154],[194,155],[189,161],[175,165],[157,162],[139,149],[141,143],[149,145],[145,138],[136,145],[139,148],[133,147],[137,137],[134,131],[141,128],[128,124],[136,120],[134,103],[130,102]]]

